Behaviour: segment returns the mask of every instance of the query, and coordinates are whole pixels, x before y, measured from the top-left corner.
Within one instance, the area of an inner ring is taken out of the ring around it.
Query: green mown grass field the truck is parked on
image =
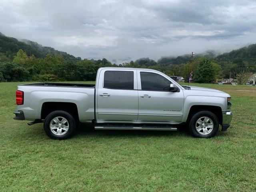
[[[255,86],[193,84],[232,96],[232,125],[211,139],[84,127],[51,140],[12,119],[17,84],[0,83],[0,191],[256,191]]]

